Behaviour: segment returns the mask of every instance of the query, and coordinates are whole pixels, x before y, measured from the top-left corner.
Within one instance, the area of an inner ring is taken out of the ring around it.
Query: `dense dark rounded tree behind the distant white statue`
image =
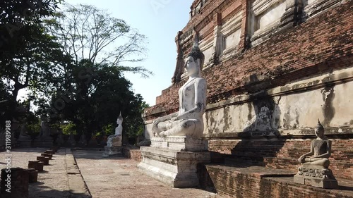
[[[85,73],[81,71],[85,70]],[[81,75],[90,75],[90,79],[79,78]],[[54,96],[54,99],[67,98],[61,111],[58,111],[61,118],[71,120],[76,125],[78,135],[85,132],[90,136],[95,132],[107,132],[107,126],[116,126],[116,118],[121,111],[124,117],[123,133],[136,136],[140,125],[141,106],[145,105],[143,98],[131,91],[131,82],[121,75],[121,70],[107,64],[94,66],[90,61],[80,61],[79,66],[73,70],[73,84],[76,92],[70,96],[61,92]],[[114,132],[114,130],[113,130]]]

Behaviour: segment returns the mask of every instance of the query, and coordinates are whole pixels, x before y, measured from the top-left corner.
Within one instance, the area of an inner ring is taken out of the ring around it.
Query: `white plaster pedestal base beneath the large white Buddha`
[[[140,147],[140,171],[172,187],[198,186],[197,164],[210,162],[208,151],[174,151]]]

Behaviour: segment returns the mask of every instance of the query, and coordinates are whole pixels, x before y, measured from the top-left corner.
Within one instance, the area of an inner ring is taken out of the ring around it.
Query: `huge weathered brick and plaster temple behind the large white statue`
[[[338,185],[353,180],[352,6],[349,0],[193,1],[189,23],[175,38],[172,86],[143,114],[145,137],[153,137],[153,120],[179,110],[178,90],[187,80],[184,64],[195,29],[208,84],[202,138],[213,162],[244,162],[294,175],[319,118],[332,142],[330,167]],[[198,170],[201,185],[220,194],[234,193],[230,186],[241,183],[240,173],[237,178],[211,166]],[[263,187],[259,182],[243,186],[244,192]]]

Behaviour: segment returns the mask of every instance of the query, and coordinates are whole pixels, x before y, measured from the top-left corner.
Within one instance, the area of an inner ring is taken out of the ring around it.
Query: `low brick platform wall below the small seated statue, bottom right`
[[[235,169],[235,168],[234,168]],[[198,165],[201,187],[225,197],[282,198],[282,197],[353,197],[353,187],[338,180],[340,189],[325,190],[318,187],[299,185],[292,176],[263,175],[232,170],[229,166]],[[352,182],[351,182],[352,183]],[[343,185],[342,185],[343,184]]]

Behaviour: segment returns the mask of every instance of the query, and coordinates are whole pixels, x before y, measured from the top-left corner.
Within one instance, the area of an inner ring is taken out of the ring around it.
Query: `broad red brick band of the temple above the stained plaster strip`
[[[203,70],[202,75],[208,82],[208,103],[244,94],[246,78],[252,74],[268,76],[272,86],[277,87],[352,66],[352,7],[353,1],[347,1],[330,8],[299,26],[278,32],[244,54]],[[198,21],[201,18],[195,17],[189,23]],[[164,89],[157,98],[157,105],[145,111],[146,118],[156,118],[151,113],[155,109],[163,108],[168,113],[177,111],[177,92],[183,84],[178,82]]]

